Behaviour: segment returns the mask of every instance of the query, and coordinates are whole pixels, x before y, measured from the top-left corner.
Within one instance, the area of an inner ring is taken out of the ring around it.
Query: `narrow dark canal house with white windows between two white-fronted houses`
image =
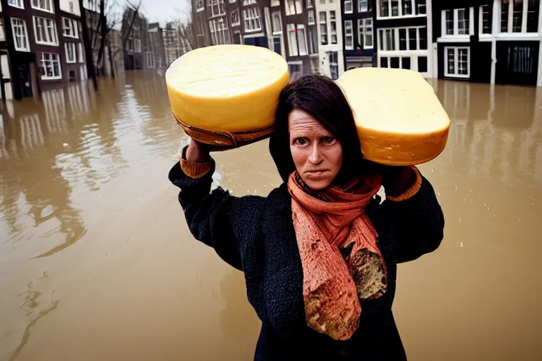
[[[342,1],[345,70],[377,65],[374,4],[373,0]]]

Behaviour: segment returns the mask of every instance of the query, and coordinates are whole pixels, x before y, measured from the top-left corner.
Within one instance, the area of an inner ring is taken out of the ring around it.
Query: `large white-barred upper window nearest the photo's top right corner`
[[[502,0],[500,32],[538,32],[540,0]]]

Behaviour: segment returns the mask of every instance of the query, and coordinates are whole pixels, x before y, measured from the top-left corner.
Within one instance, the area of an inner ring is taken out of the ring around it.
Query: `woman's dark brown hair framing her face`
[[[361,173],[361,147],[356,123],[342,89],[330,78],[322,75],[305,75],[284,87],[280,93],[269,150],[284,182],[296,170],[290,152],[288,116],[294,109],[311,114],[332,133],[342,145],[342,168],[337,175],[349,180]]]

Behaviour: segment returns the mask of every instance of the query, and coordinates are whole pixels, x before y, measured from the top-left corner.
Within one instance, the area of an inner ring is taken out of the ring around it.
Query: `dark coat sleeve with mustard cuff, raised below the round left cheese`
[[[179,202],[192,235],[213,247],[217,255],[242,271],[241,241],[255,233],[261,205],[265,198],[234,197],[227,190],[211,192],[212,169],[200,178],[191,178],[176,163],[169,171],[169,181],[179,187]]]

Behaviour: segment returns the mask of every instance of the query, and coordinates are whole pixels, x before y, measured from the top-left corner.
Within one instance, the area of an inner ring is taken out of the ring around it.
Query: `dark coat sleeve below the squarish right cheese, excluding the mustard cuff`
[[[397,262],[409,262],[438,248],[444,237],[444,214],[429,181],[421,176],[416,194],[385,200],[382,211],[397,244]]]

